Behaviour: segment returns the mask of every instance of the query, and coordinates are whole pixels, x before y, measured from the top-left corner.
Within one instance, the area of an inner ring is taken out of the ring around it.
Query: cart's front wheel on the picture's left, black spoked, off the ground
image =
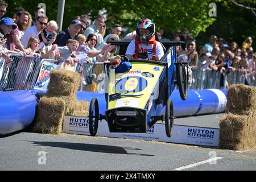
[[[98,130],[98,100],[97,98],[92,98],[89,107],[89,131],[91,136],[95,136]]]

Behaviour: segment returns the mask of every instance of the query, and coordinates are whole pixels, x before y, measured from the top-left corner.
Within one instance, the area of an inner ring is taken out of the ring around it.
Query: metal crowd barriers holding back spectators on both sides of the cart
[[[104,63],[87,63],[84,65],[76,63],[75,67],[70,65],[57,65],[58,61],[53,59],[42,59],[35,56],[21,56],[10,54],[13,63],[6,64],[0,58],[0,91],[30,90],[38,88],[47,89],[46,80],[53,68],[68,69],[78,72],[81,76],[79,90],[90,92],[104,92]],[[49,69],[51,67],[51,69]],[[229,88],[233,84],[247,84],[256,86],[256,73],[241,71],[228,71],[220,73],[212,70],[192,69],[189,76],[189,89],[221,89]]]

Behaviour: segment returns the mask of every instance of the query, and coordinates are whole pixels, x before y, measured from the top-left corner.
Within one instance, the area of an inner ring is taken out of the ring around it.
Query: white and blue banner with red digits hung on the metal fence
[[[36,84],[34,89],[36,90],[46,90],[49,84],[50,74],[52,69],[60,69],[61,65],[49,63],[47,61],[42,63],[40,68],[40,72],[38,75],[38,80],[36,80]]]

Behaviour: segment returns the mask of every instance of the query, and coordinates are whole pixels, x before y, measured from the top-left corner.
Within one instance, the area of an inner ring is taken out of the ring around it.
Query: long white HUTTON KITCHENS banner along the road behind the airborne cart
[[[64,133],[89,135],[89,119],[88,117],[65,116],[63,123]],[[97,136],[157,140],[160,142],[194,144],[199,146],[218,146],[220,130],[174,125],[172,137],[166,136],[165,125],[156,123],[147,133],[110,133],[108,123],[105,120],[98,123]]]

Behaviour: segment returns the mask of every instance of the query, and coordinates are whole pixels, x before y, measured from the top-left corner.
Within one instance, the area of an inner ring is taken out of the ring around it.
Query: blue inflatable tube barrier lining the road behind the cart
[[[187,100],[183,101],[179,90],[174,90],[171,94],[174,116],[224,112],[227,92],[227,89],[188,90]],[[26,129],[34,120],[38,99],[44,94],[46,90],[0,92],[0,135]],[[77,100],[90,102],[93,97],[98,100],[100,114],[105,115],[105,93],[77,92]],[[165,114],[165,107],[160,114]]]

